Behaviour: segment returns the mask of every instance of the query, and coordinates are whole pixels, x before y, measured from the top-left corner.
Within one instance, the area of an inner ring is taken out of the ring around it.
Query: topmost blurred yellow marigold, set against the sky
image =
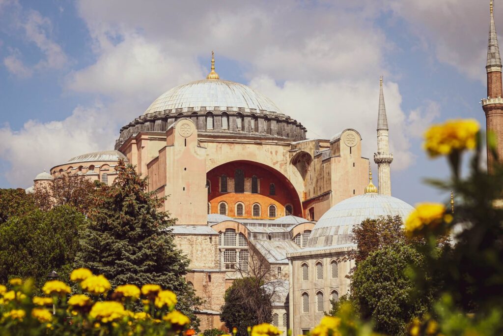
[[[424,148],[430,157],[474,149],[479,128],[475,119],[447,120],[433,125],[425,133]]]

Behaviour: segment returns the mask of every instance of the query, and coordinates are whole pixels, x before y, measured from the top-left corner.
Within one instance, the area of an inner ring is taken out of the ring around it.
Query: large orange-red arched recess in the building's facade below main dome
[[[234,172],[236,169],[244,171],[245,180],[251,179],[254,175],[258,177],[260,180],[258,193],[251,193],[249,188],[246,188],[246,186],[244,193],[233,192],[233,182],[231,179],[234,178]],[[221,192],[220,190],[219,178],[221,178],[222,175],[225,175],[228,178],[228,192]],[[220,210],[219,205],[221,203],[225,203],[227,206],[227,216],[269,219],[268,208],[272,204],[277,207],[277,216],[274,218],[285,215],[286,205],[293,206],[293,215],[302,217],[302,203],[294,185],[285,175],[273,167],[254,161],[236,160],[214,167],[206,173],[206,178],[210,181],[211,185],[208,193],[208,202],[210,203],[211,213],[218,214]],[[270,194],[271,183],[275,184],[275,195]],[[238,202],[244,204],[243,216],[236,216],[235,204]],[[261,215],[259,217],[253,216],[253,205],[256,203],[258,203],[261,208]]]

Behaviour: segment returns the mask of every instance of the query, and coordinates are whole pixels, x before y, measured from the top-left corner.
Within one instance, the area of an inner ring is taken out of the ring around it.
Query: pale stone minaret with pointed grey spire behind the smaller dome
[[[382,92],[382,76],[379,78],[379,115],[377,117],[377,154],[374,154],[374,162],[377,164],[379,177],[379,193],[391,196],[391,172],[390,164],[393,162],[393,155],[389,153],[388,141],[388,118],[386,117],[386,106],[384,105],[384,94]]]

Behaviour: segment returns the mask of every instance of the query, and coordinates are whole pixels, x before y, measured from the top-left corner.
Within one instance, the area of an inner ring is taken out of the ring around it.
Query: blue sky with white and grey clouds
[[[452,118],[485,128],[488,27],[489,0],[0,0],[0,188],[113,149],[155,98],[204,79],[214,50],[221,79],[271,98],[308,138],[358,130],[374,173],[384,76],[392,194],[446,200],[424,183],[450,172],[423,133]]]

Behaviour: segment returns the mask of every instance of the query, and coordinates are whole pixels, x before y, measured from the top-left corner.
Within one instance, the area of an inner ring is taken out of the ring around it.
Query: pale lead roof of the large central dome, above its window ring
[[[159,96],[145,114],[187,107],[219,107],[220,110],[247,108],[281,112],[269,98],[235,82],[206,79],[177,86]]]

